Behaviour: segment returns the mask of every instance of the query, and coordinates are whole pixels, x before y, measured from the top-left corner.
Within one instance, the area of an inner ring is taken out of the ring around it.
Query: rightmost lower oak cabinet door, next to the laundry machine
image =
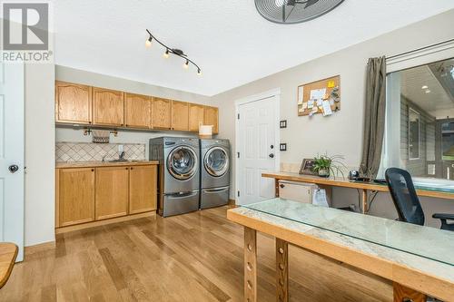
[[[129,213],[156,210],[157,167],[134,166],[129,171]]]

